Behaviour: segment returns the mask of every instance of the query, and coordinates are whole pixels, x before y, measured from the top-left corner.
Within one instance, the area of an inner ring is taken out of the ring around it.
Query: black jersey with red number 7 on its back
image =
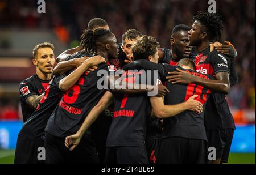
[[[130,64],[129,64],[130,65]],[[129,66],[129,70],[133,67]],[[128,70],[125,69],[124,70]],[[148,76],[151,74],[151,77]],[[138,72],[125,72],[121,78],[127,82],[141,82],[148,80],[148,84],[160,83],[158,74],[152,75],[153,71],[147,72],[140,70]],[[147,78],[150,78],[147,79]],[[150,119],[151,104],[147,94],[114,94],[114,117],[109,129],[106,141],[107,147],[117,146],[145,146],[146,125]]]

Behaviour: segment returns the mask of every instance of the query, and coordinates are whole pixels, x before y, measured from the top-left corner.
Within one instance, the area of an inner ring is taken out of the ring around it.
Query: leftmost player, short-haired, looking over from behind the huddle
[[[35,111],[49,81],[52,79],[55,63],[53,49],[53,44],[49,42],[36,45],[33,49],[33,64],[36,66],[36,74],[23,80],[19,85],[23,122],[26,122],[32,112]]]

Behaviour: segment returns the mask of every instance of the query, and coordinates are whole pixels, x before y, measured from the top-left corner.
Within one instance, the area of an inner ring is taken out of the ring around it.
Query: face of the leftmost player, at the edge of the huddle
[[[55,63],[52,48],[39,48],[33,63],[43,74],[51,74]]]

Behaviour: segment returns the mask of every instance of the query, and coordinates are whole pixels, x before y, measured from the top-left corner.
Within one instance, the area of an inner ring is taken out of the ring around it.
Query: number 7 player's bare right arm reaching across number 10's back
[[[164,105],[162,97],[150,97],[150,103],[156,117],[167,118],[176,116],[185,110],[197,113],[203,112],[203,105],[199,101],[194,100],[196,97],[197,95],[193,95],[187,101],[176,105]]]

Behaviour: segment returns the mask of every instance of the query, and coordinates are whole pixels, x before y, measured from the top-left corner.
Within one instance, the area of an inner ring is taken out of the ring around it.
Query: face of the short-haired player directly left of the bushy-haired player
[[[188,58],[192,49],[192,47],[189,46],[188,31],[180,31],[175,33],[173,38],[174,45],[172,46],[175,50],[175,53],[177,54],[177,57],[180,59]]]

